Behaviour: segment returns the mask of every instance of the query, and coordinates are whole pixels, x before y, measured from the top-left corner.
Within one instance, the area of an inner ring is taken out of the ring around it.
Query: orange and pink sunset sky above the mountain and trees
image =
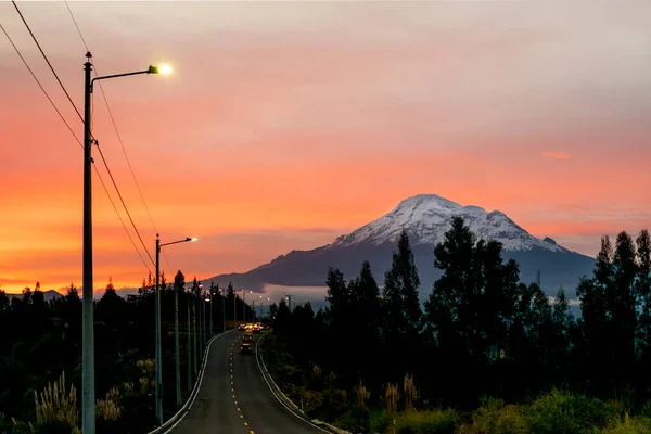
[[[163,242],[200,238],[167,248],[168,275],[246,271],[418,193],[590,256],[602,233],[651,221],[648,2],[68,4],[100,75],[175,67],[104,81]],[[65,4],[18,5],[81,110],[86,50]],[[10,2],[0,24],[80,137]],[[0,288],[80,285],[81,150],[3,34],[0,95]],[[93,116],[153,255],[99,89]],[[95,284],[136,286],[148,269],[93,182]]]

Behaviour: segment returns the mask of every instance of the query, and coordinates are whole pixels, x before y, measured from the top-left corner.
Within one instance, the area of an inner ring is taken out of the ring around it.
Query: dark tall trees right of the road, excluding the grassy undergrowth
[[[610,399],[651,399],[651,240],[621,232],[601,239],[592,276],[577,285],[580,317],[564,290],[550,299],[520,281],[497,241],[477,240],[460,217],[434,247],[443,276],[424,306],[403,232],[380,290],[371,265],[346,281],[328,271],[328,306],[270,307],[272,327],[306,372],[333,372],[336,387],[416,379],[421,403],[473,409],[482,396],[518,403],[551,388]]]

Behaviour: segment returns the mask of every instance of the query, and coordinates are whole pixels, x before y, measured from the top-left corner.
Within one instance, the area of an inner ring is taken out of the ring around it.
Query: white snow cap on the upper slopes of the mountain
[[[412,245],[435,245],[443,242],[454,216],[462,217],[477,240],[499,241],[505,251],[526,252],[539,247],[550,252],[569,252],[550,238],[540,240],[529,234],[499,210],[486,213],[478,206],[461,206],[436,194],[408,197],[375,221],[337,238],[328,248],[395,243],[403,229],[407,231]]]

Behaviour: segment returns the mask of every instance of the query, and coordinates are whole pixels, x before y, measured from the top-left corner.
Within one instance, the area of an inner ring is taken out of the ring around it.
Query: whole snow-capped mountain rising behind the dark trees
[[[478,206],[461,206],[436,194],[419,194],[401,201],[388,214],[339,237],[331,244],[311,251],[292,251],[244,273],[219,275],[204,281],[219,285],[232,282],[237,288],[260,291],[265,284],[322,286],[328,267],[337,267],[346,277],[356,277],[363,260],[371,263],[379,284],[391,268],[397,239],[406,230],[411,241],[421,277],[421,299],[430,294],[441,276],[434,268],[434,246],[443,241],[452,216],[461,216],[477,240],[497,240],[503,244],[505,259],[520,264],[520,278],[528,283],[540,272],[541,286],[554,295],[563,286],[570,296],[580,276],[590,275],[595,259],[572,252],[552,239],[539,239],[518,226],[502,212],[487,213]]]

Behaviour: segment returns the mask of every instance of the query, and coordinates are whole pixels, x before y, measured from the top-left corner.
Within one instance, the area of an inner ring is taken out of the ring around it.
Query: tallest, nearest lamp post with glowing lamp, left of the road
[[[84,64],[84,248],[82,248],[82,323],[81,323],[81,431],[95,432],[93,277],[92,277],[92,90],[97,80],[138,74],[169,74],[169,66],[150,66],[145,71],[114,74],[91,79],[92,54],[86,53]],[[157,279],[157,275],[156,275]]]

